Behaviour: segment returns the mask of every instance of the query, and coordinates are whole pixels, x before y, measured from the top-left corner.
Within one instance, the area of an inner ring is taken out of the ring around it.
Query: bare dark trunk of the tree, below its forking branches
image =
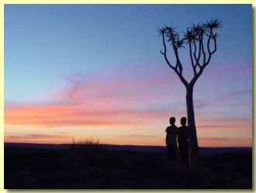
[[[193,106],[193,86],[187,86],[186,91],[188,126],[191,130],[191,134],[189,137],[189,165],[193,167],[193,165],[199,164],[199,145],[197,142],[195,114]]]

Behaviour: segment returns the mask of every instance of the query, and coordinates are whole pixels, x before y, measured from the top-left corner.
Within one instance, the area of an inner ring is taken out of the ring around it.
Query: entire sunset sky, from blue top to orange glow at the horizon
[[[169,118],[186,117],[185,87],[157,27],[217,18],[194,88],[199,146],[251,147],[251,5],[5,5],[4,17],[5,142],[164,145]],[[179,54],[189,81],[189,49]]]

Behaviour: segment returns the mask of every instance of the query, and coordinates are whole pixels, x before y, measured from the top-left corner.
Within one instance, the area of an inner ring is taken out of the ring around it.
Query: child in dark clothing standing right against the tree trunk
[[[185,124],[187,122],[186,117],[181,119],[181,127],[178,127],[178,149],[182,161],[189,164],[189,127]]]

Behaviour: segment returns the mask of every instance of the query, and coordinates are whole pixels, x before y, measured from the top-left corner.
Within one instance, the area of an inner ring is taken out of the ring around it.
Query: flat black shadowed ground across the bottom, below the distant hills
[[[5,189],[252,188],[251,151],[202,160],[208,171],[192,171],[162,152],[5,147]]]

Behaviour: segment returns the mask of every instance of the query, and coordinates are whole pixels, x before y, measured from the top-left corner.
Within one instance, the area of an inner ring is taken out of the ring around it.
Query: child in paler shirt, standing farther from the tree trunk
[[[166,146],[168,151],[168,157],[170,160],[175,161],[176,159],[176,149],[177,149],[177,130],[178,127],[175,126],[175,117],[171,117],[170,126],[165,130],[166,132]]]

